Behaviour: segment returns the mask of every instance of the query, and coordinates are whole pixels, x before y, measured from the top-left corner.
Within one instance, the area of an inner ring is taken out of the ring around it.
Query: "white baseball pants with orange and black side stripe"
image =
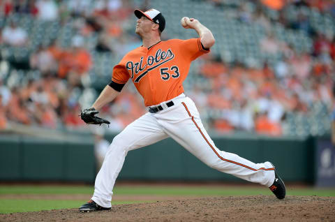
[[[114,183],[128,151],[168,137],[176,140],[211,168],[267,187],[273,184],[274,166],[271,163],[253,163],[236,154],[221,151],[202,126],[199,112],[191,98],[181,94],[172,101],[172,107],[165,105],[169,101],[161,103],[163,110],[147,112],[114,138],[96,176],[91,199],[98,205],[111,207]]]

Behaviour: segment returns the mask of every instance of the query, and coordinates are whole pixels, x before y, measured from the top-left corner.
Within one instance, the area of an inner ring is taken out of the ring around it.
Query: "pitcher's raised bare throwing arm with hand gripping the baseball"
[[[202,46],[209,50],[215,43],[215,38],[213,34],[211,33],[211,30],[209,30],[207,27],[205,27],[203,24],[199,22],[199,20],[196,20],[195,18],[191,17],[183,17],[181,19],[181,25],[185,29],[195,29],[197,31]]]

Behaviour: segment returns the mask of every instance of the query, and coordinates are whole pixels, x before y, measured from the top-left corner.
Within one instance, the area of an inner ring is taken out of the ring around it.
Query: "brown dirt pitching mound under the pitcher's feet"
[[[229,196],[114,205],[103,212],[78,209],[2,214],[0,221],[335,221],[335,198]]]

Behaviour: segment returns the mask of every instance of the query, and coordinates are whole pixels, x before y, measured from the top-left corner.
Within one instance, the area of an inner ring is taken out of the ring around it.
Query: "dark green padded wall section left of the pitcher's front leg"
[[[0,138],[1,181],[94,182],[93,141]]]

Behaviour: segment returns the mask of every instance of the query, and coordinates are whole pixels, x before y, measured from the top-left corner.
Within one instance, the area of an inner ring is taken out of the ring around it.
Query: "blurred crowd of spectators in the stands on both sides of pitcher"
[[[230,1],[207,2],[223,8]],[[281,59],[274,64],[265,60],[261,66],[246,66],[236,62],[228,64],[220,55],[208,54],[199,59],[198,73],[188,75],[188,78],[202,78],[207,84],[195,82],[188,87],[186,94],[198,105],[209,129],[221,133],[255,131],[283,135],[283,121],[288,112],[307,114],[317,102],[327,105],[329,112],[334,108],[335,38],[331,31],[313,29],[304,13],[299,14],[296,20],[288,20],[282,12],[288,6],[304,6],[334,18],[335,2],[250,2],[258,6],[257,10],[250,11],[241,3],[236,19],[260,24],[267,34],[255,44],[259,44],[262,54],[269,57],[281,54]],[[150,1],[143,1],[143,9],[149,6]],[[87,108],[101,90],[87,84],[87,77],[95,66],[92,52],[123,55],[141,45],[130,26],[135,24],[131,22],[135,19],[134,7],[130,0],[0,1],[0,15],[5,20],[14,14],[28,14],[34,20],[59,21],[61,26],[72,20],[75,30],[69,47],[62,47],[59,39],[54,38],[48,45],[38,45],[29,54],[29,69],[38,71],[37,80],[10,85],[8,78],[0,75],[0,128],[6,128],[8,121],[45,128],[82,128],[84,122],[78,116],[80,110]],[[278,11],[278,18],[269,18],[263,8]],[[289,43],[278,40],[271,31],[274,22],[283,24],[285,29],[304,31],[313,40],[311,50],[297,52]],[[0,29],[2,46],[31,45],[28,31],[15,21],[6,24]],[[91,35],[98,35],[96,45],[85,42],[85,37]],[[165,34],[164,38],[175,38],[168,35]],[[220,40],[217,39],[216,43],[219,44]],[[3,69],[6,67],[1,62],[0,73]],[[110,130],[121,131],[145,112],[142,99],[128,84],[101,115],[112,121]]]

